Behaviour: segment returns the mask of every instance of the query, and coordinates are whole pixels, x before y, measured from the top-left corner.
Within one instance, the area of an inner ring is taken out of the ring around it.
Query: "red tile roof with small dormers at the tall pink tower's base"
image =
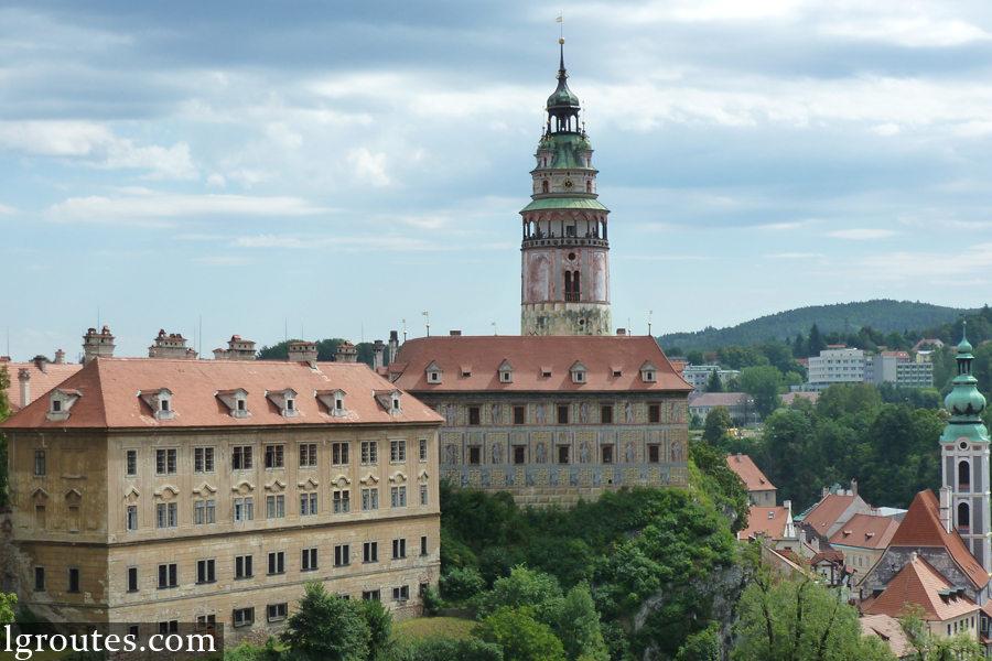
[[[500,383],[504,360],[514,368],[513,383]],[[589,369],[584,383],[573,383],[569,368],[576,361]],[[397,361],[407,369],[397,386],[413,391],[658,391],[691,392],[653,337],[629,336],[439,336],[418,337],[400,347]],[[428,383],[424,370],[436,361],[441,383]],[[645,383],[640,368],[650,361],[656,380]],[[467,369],[466,369],[467,368]],[[622,376],[614,377],[614,371]],[[463,376],[463,373],[470,376]],[[550,377],[542,377],[551,372]]]

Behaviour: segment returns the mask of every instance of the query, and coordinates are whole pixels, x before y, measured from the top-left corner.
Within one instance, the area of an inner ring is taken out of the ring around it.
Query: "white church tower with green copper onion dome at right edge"
[[[978,379],[971,373],[974,356],[963,327],[957,358],[955,389],[944,400],[951,416],[940,436],[941,491],[950,490],[948,505],[955,528],[988,574],[992,573],[992,527],[989,521],[989,433],[981,419],[985,398],[978,391]]]

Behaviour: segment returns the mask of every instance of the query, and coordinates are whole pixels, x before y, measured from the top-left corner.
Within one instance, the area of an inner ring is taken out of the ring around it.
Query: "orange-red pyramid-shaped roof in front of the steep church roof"
[[[865,599],[861,610],[866,615],[897,618],[905,615],[907,607],[921,606],[925,620],[944,621],[979,609],[963,588],[953,588],[934,565],[917,556],[899,570],[881,595]]]

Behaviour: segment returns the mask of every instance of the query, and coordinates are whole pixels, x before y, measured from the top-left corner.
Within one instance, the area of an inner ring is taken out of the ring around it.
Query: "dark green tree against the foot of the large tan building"
[[[296,659],[365,661],[370,632],[357,602],[328,595],[323,583],[311,581],[279,640]]]

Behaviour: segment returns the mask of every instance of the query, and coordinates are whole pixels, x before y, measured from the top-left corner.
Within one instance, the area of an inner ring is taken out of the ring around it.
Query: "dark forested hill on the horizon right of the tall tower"
[[[844,319],[850,333],[856,333],[861,326],[871,326],[875,330],[903,333],[906,329],[931,328],[953,322],[960,314],[970,314],[974,310],[944,307],[929,303],[910,301],[889,301],[887,299],[864,301],[860,303],[837,303],[834,305],[811,305],[778,314],[769,314],[727,328],[712,326],[696,333],[670,333],[658,337],[662,347],[679,347],[682,351],[693,349],[712,351],[720,347],[737,345],[752,346],[768,339],[783,340],[795,337],[796,333],[808,333],[810,326],[817,324],[820,333],[844,330]]]

